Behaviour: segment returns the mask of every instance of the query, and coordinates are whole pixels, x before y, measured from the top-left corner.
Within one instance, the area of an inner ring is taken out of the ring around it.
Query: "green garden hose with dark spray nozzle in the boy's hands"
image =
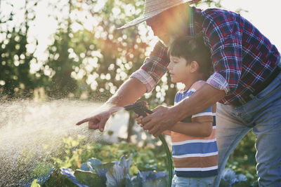
[[[148,116],[147,113],[153,113],[148,109],[147,103],[145,101],[136,102],[134,104],[129,104],[124,106],[124,109],[126,111],[134,111],[135,113],[138,113],[139,116]],[[167,187],[171,187],[171,180],[173,179],[173,165],[172,165],[172,159],[171,159],[171,152],[169,150],[168,145],[166,144],[166,140],[162,136],[162,134],[159,135],[159,139],[162,141],[162,144],[164,146],[165,152],[166,152],[166,158],[168,161],[168,185]]]

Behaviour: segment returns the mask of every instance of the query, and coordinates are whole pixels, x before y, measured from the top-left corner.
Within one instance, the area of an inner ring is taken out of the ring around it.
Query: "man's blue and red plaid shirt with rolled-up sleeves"
[[[207,83],[227,94],[220,102],[240,105],[251,100],[251,93],[277,66],[280,58],[277,48],[237,13],[216,8],[201,11],[188,6],[188,9],[186,35],[203,33],[214,65],[214,74]],[[166,50],[166,46],[158,42],[141,69],[131,75],[142,81],[148,92],[167,71]]]

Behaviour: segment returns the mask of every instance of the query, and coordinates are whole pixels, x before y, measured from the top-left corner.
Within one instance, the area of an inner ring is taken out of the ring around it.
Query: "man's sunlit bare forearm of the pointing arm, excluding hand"
[[[146,92],[146,87],[137,78],[129,78],[124,82],[106,104],[113,104],[115,106],[124,106],[136,102]]]

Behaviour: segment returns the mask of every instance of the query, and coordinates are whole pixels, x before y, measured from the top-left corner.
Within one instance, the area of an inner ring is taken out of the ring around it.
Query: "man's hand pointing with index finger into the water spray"
[[[80,120],[76,125],[81,125],[82,123],[89,122],[89,128],[97,130],[99,129],[100,132],[103,132],[105,129],[105,123],[107,122],[108,118],[110,118],[110,111],[103,111],[90,118],[85,118],[84,120]]]

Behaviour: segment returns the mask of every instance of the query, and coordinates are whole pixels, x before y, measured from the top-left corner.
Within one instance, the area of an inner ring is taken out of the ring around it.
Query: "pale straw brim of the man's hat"
[[[174,4],[173,6],[169,6],[169,7],[157,10],[157,11],[155,11],[153,13],[148,13],[146,15],[141,15],[140,17],[138,17],[138,18],[136,18],[134,20],[131,20],[130,22],[127,22],[125,25],[123,25],[122,27],[119,27],[117,29],[125,29],[125,28],[128,28],[128,27],[132,27],[134,25],[138,25],[139,23],[144,22],[145,20],[148,20],[148,19],[152,18],[155,15],[158,15],[159,13],[162,13],[162,12],[168,10],[169,8],[172,8],[174,6],[178,6],[180,4],[185,4],[186,2],[188,2],[188,0],[180,1],[178,4]]]

